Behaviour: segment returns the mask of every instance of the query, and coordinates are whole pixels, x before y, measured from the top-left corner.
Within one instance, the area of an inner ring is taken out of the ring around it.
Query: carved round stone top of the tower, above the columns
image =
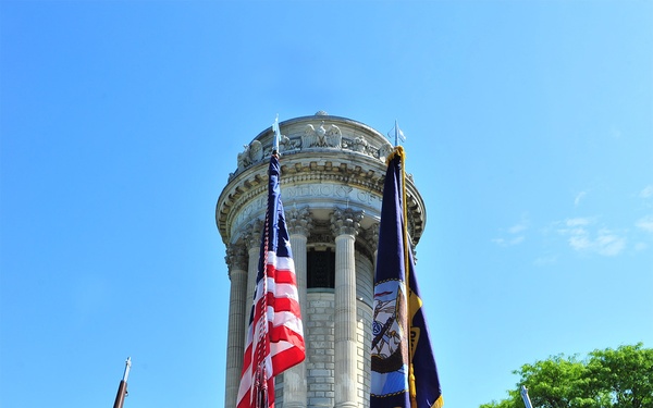
[[[281,188],[286,209],[295,203],[333,208],[340,202],[366,212],[372,210],[370,217],[380,217],[386,172],[385,156],[392,150],[392,145],[382,134],[360,122],[322,112],[281,122],[280,128],[283,134],[280,143]],[[220,194],[215,207],[215,223],[225,244],[238,239],[237,236],[231,236],[232,228],[239,228],[245,221],[244,217],[248,217],[250,211],[255,215],[254,212],[264,207],[262,200],[267,200],[268,190],[267,159],[272,150],[272,129],[267,128],[245,146],[245,150],[238,154],[236,171],[230,174],[229,182]],[[306,201],[306,196],[301,194],[310,188],[311,193],[307,194],[312,195],[312,198],[308,202],[295,202],[292,196],[284,195],[284,188],[289,194],[295,191],[295,197],[300,201]],[[333,203],[326,203],[329,198],[324,191],[313,193],[317,188],[332,188],[341,195],[333,197]],[[350,199],[346,191],[352,189],[354,193]],[[373,202],[357,201],[354,197],[356,194],[359,195],[358,198],[369,197]],[[408,228],[417,244],[426,225],[426,209],[411,177],[407,178],[407,195]],[[311,207],[313,209],[316,208]],[[234,224],[236,221],[237,225]],[[233,234],[239,233],[233,230]]]

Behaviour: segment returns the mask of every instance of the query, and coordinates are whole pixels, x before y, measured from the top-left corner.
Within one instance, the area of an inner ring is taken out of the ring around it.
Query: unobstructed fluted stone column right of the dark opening
[[[356,254],[355,243],[362,212],[335,209],[331,225],[335,235],[335,408],[358,407],[356,367]]]

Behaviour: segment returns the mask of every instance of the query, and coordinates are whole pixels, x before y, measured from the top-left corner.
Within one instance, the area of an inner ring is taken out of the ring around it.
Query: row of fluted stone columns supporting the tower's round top
[[[331,227],[335,240],[333,374],[336,408],[358,407],[355,243],[362,217],[361,211],[353,211],[348,208],[336,208],[331,214]],[[308,208],[287,210],[286,224],[291,236],[303,321],[306,323],[307,242],[312,228]],[[248,225],[243,234],[243,239],[227,248],[226,260],[231,280],[225,390],[225,407],[227,408],[236,406],[249,308],[258,270],[260,232],[261,221],[256,220]],[[306,335],[307,327],[305,325]],[[306,408],[308,406],[306,367],[307,361],[284,372],[284,408]]]

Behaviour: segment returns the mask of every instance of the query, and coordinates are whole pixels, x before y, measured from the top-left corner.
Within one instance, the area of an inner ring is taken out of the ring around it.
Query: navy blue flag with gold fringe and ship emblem
[[[370,408],[444,405],[406,227],[404,149],[387,159],[381,205]]]

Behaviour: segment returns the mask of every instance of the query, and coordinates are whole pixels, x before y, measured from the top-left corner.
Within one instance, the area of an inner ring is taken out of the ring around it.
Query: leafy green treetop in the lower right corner
[[[620,346],[594,350],[583,360],[558,355],[523,364],[508,398],[480,408],[523,408],[528,388],[533,408],[653,408],[653,349]]]

